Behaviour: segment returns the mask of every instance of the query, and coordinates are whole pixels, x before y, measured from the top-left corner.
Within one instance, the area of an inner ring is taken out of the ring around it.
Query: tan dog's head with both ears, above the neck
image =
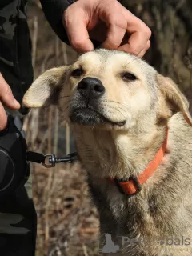
[[[82,54],[71,66],[47,70],[23,104],[57,104],[68,122],[94,129],[141,129],[178,111],[192,124],[186,98],[170,78],[140,58],[111,50]]]

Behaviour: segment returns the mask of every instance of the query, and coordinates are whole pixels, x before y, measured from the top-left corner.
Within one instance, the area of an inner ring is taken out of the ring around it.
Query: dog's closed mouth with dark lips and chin
[[[98,112],[98,110],[86,108],[74,109],[70,113],[70,121],[82,124],[84,126],[94,126],[94,125],[111,125],[111,126],[124,126],[126,120],[121,122],[114,122],[106,118],[103,114]]]

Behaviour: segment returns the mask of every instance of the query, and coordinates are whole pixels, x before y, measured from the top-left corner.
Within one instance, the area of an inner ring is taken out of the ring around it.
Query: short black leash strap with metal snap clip
[[[42,163],[46,168],[54,167],[59,162],[70,162],[78,160],[78,154],[76,152],[66,155],[64,158],[56,158],[54,154],[41,154],[33,151],[26,152],[26,160],[30,162]],[[48,160],[49,164],[46,164]]]

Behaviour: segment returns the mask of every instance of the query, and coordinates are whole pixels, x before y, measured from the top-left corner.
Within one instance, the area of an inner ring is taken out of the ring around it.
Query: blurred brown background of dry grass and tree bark
[[[170,76],[192,102],[192,1],[120,1],[152,30],[144,59]],[[46,22],[38,0],[28,4],[34,78],[54,66],[70,64],[78,54],[61,42]],[[190,104],[190,113],[192,106]],[[70,128],[54,106],[31,110],[24,122],[30,150],[64,156],[75,150]],[[32,165],[38,213],[37,256],[98,255],[98,213],[90,201],[86,172],[77,163],[46,169]]]

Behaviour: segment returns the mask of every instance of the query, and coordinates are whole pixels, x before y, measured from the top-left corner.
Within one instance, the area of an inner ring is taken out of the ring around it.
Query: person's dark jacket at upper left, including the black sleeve
[[[41,0],[50,26],[69,44],[62,26],[62,14],[73,0]],[[27,0],[0,1],[0,72],[22,103],[23,94],[33,82],[30,32],[26,20]],[[22,109],[22,113],[25,110]]]

